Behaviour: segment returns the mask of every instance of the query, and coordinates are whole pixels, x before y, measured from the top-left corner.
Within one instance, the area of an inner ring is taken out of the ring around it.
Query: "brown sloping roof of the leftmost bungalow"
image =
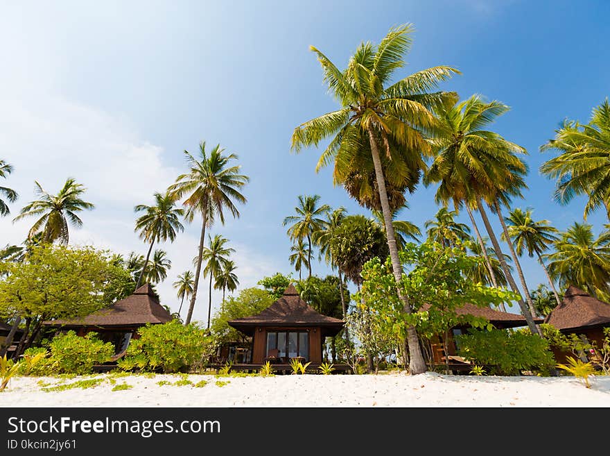
[[[167,323],[172,317],[159,304],[153,287],[148,283],[134,294],[110,307],[74,319],[45,321],[46,326],[142,326],[146,323]]]

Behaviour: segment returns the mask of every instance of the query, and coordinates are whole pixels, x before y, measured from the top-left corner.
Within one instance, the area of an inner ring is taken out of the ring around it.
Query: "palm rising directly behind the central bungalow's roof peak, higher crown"
[[[295,207],[297,215],[290,215],[284,219],[284,226],[288,225],[288,236],[293,241],[307,238],[307,267],[309,269],[309,277],[311,277],[311,237],[313,234],[324,227],[323,217],[326,212],[331,210],[328,204],[318,206],[320,195],[299,195],[299,205]]]

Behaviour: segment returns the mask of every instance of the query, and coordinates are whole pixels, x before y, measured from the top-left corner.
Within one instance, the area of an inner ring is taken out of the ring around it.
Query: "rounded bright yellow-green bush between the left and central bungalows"
[[[211,337],[193,324],[183,326],[173,320],[162,325],[139,328],[139,339],[132,339],[119,367],[125,370],[175,373],[187,371],[201,361],[211,346]]]

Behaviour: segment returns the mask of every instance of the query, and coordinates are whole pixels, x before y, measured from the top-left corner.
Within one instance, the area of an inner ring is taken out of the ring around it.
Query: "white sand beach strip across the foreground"
[[[0,393],[0,407],[610,407],[610,376],[593,378],[591,389],[573,377],[438,373],[189,375],[193,384],[206,380],[203,387],[157,385],[182,380],[177,375],[88,378],[102,381],[87,389],[47,392],[44,385],[67,385],[82,378],[15,378]],[[112,391],[121,384],[132,388]]]

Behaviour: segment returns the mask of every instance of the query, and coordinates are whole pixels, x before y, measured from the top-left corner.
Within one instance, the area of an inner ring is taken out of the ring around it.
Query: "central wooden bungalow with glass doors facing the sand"
[[[277,370],[290,369],[290,361],[297,358],[322,363],[322,348],[326,337],[333,337],[345,322],[316,312],[299,296],[294,285],[288,285],[284,296],[259,314],[234,319],[230,326],[252,337],[250,356],[243,369],[256,369],[269,361]],[[281,365],[281,366],[280,366]],[[234,365],[234,369],[240,366]]]

